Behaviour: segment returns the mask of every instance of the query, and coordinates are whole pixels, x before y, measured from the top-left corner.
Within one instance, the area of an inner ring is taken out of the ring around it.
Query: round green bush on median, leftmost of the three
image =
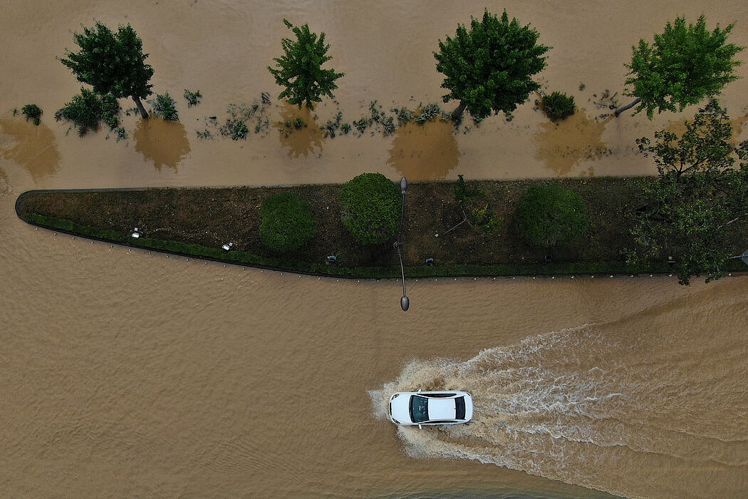
[[[301,248],[315,231],[316,221],[309,205],[290,192],[270,196],[260,206],[260,239],[270,249]]]

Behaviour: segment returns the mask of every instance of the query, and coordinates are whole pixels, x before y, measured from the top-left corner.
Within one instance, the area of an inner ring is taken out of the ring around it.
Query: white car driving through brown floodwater
[[[399,391],[390,397],[388,414],[395,424],[467,423],[473,417],[473,396],[467,391]]]

